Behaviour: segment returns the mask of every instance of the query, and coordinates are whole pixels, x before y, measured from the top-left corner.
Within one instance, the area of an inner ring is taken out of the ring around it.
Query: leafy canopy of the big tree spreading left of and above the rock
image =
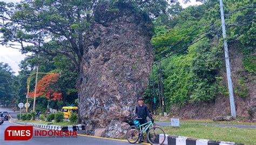
[[[95,10],[103,1],[43,1],[24,0],[19,3],[0,2],[0,44],[21,50],[22,53],[45,53],[66,56],[80,71],[85,33],[95,18]],[[105,1],[109,11],[118,11],[120,5],[133,5],[158,17],[165,13],[167,1]],[[15,43],[14,43],[15,42]],[[17,44],[20,46],[17,46]]]

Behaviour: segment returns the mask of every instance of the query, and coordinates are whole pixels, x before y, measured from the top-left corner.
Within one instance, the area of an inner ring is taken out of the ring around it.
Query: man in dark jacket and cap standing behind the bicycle
[[[140,125],[147,123],[147,116],[149,116],[149,118],[152,119],[152,116],[149,112],[149,108],[147,108],[147,106],[143,103],[143,99],[141,97],[139,97],[138,99],[138,105],[136,106],[135,113],[138,118],[142,118],[139,120]],[[146,130],[146,132],[148,131],[149,129]],[[139,136],[139,143],[141,143],[142,141],[143,141],[143,135]]]

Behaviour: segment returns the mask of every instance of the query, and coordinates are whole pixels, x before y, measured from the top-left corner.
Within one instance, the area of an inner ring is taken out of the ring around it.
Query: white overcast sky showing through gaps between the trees
[[[20,2],[20,0],[0,0],[4,2]],[[183,8],[186,8],[189,5],[198,5],[200,2],[196,2],[196,0],[191,0],[190,3],[183,4],[182,0],[178,0]],[[15,74],[18,74],[19,71],[19,63],[21,60],[25,58],[25,54],[21,54],[19,50],[6,48],[5,46],[0,45],[0,62],[7,63],[11,66],[12,70],[15,72]]]

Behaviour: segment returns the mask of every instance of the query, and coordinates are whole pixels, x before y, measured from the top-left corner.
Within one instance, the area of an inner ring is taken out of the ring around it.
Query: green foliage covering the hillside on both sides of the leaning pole
[[[254,74],[256,69],[256,56],[253,55],[256,31],[253,8],[250,8],[252,4],[249,0],[239,3],[224,1],[228,44],[231,51],[236,49],[232,47],[233,44],[239,45],[237,49],[243,54],[242,63],[248,75]],[[246,6],[249,7],[241,9]],[[165,19],[165,22],[160,18],[154,21],[154,36],[151,39],[155,61],[174,53],[161,61],[167,106],[171,103],[184,105],[187,102],[211,101],[218,94],[227,96],[227,82],[223,79],[226,74],[218,1],[207,1],[186,9],[181,9],[177,3],[171,9],[172,12],[177,10],[171,18]],[[157,71],[158,68],[154,66],[154,88],[158,99]],[[151,87],[152,79],[151,73]],[[239,86],[234,89],[240,97],[248,96],[245,84],[246,79],[239,80]],[[149,89],[144,96],[149,102]]]

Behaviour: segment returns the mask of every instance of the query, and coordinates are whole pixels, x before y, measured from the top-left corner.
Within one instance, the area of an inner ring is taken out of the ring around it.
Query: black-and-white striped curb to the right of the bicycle
[[[160,134],[159,141],[164,139],[164,135]],[[190,139],[185,136],[171,136],[165,135],[165,141],[163,144],[167,145],[235,145],[235,142],[224,142],[224,141],[212,141],[204,139]]]

